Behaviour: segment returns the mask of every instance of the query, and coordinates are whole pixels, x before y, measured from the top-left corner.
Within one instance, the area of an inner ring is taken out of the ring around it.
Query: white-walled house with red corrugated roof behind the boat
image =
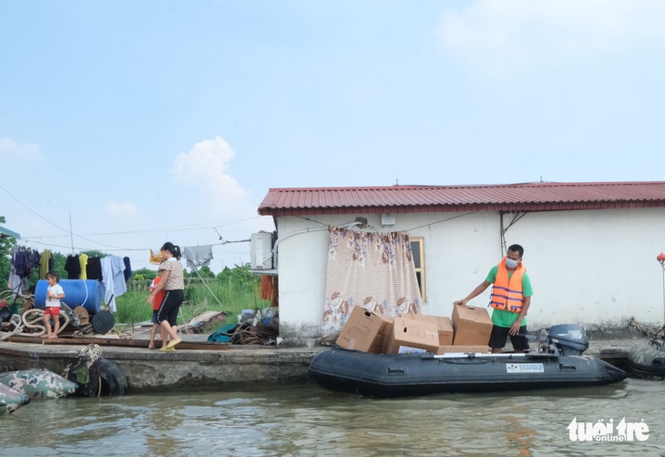
[[[529,329],[665,319],[665,182],[271,188],[258,211],[277,228],[265,272],[279,276],[282,344],[320,334],[327,227],[365,219],[363,230],[409,232],[426,314],[450,316],[518,243],[534,287]],[[488,296],[469,304],[486,307]]]

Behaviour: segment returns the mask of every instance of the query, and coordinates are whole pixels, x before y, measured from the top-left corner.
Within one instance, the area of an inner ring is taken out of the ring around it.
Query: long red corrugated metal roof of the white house
[[[263,216],[663,208],[665,182],[536,182],[469,186],[271,188]]]

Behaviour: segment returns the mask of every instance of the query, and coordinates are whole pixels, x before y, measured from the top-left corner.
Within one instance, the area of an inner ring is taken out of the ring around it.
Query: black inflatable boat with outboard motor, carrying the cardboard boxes
[[[581,327],[554,326],[539,341],[537,352],[525,354],[373,354],[333,347],[314,356],[310,375],[325,389],[373,397],[598,386],[627,377],[581,355],[588,348]]]

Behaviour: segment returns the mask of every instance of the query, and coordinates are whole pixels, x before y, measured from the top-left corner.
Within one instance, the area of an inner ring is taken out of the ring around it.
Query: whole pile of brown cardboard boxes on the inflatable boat
[[[337,344],[375,354],[487,352],[492,320],[485,308],[455,306],[452,318],[384,314],[353,307]]]

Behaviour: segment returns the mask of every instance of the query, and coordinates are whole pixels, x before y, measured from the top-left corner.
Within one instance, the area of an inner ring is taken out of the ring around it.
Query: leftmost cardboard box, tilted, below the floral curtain
[[[393,328],[393,319],[381,313],[354,306],[336,343],[346,349],[380,354]]]

